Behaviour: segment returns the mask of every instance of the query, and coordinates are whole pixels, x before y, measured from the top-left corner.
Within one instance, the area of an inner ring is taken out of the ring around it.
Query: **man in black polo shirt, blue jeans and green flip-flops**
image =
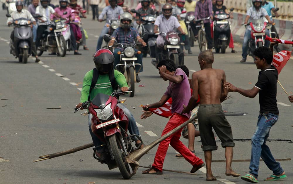
[[[271,44],[273,47],[273,44]],[[278,71],[271,65],[273,54],[267,47],[259,47],[253,52],[255,55],[255,65],[260,69],[258,81],[252,89],[244,90],[233,86],[231,83],[224,83],[225,88],[229,92],[236,91],[243,96],[254,98],[257,93],[259,94],[260,114],[258,116],[257,129],[253,134],[252,148],[251,148],[251,161],[249,166],[249,174],[241,176],[241,179],[258,183],[258,167],[260,157],[273,175],[266,178],[267,181],[278,180],[286,178],[285,171],[282,169],[279,162],[276,162],[270,148],[266,145],[271,127],[277,122],[279,118],[279,110],[277,107],[277,80]]]

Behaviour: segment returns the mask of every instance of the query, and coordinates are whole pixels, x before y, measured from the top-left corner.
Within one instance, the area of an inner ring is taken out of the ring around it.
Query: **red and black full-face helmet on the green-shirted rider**
[[[96,51],[93,62],[99,72],[108,73],[113,70],[114,55],[109,49],[102,48]]]

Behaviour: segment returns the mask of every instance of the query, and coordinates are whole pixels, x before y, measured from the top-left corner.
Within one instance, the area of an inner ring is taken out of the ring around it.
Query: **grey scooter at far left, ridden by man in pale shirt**
[[[19,62],[27,63],[33,45],[31,21],[26,18],[18,18],[13,20],[13,25],[14,42],[10,40],[10,53],[18,58]]]

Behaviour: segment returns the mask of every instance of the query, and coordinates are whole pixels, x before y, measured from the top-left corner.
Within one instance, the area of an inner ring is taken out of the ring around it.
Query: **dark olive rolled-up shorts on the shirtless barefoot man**
[[[221,140],[222,147],[235,146],[232,129],[225,117],[221,104],[200,105],[197,117],[203,151],[218,149],[212,129]]]

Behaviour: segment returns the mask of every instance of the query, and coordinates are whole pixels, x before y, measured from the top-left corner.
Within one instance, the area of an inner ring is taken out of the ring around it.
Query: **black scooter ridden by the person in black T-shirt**
[[[231,8],[230,11],[233,11]],[[226,48],[229,46],[230,35],[231,35],[231,23],[229,20],[230,15],[226,15],[224,11],[219,11],[214,14],[213,32],[214,32],[214,48],[216,53],[226,52]]]

